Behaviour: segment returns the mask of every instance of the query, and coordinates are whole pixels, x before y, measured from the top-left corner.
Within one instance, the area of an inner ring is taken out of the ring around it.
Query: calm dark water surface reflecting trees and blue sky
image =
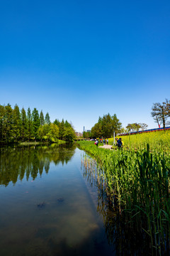
[[[76,146],[1,147],[1,256],[116,255],[82,154]]]

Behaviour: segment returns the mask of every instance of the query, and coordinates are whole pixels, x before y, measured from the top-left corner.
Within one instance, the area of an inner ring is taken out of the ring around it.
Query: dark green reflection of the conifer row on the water
[[[74,155],[76,146],[6,146],[0,148],[0,185],[8,186],[12,182],[32,177],[33,180],[42,172],[50,169],[50,162],[55,165],[67,164]],[[17,149],[17,150],[16,150]]]

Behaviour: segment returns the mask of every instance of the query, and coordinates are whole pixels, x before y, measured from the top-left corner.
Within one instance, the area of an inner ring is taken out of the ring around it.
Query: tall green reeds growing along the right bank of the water
[[[141,135],[141,134],[140,134]],[[158,142],[158,141],[157,141]],[[131,144],[123,150],[101,149],[93,142],[79,142],[98,165],[98,183],[111,198],[113,208],[132,230],[145,231],[152,255],[168,255],[170,233],[170,159],[157,144]],[[129,148],[128,148],[129,147]],[[87,156],[86,156],[87,157]]]

